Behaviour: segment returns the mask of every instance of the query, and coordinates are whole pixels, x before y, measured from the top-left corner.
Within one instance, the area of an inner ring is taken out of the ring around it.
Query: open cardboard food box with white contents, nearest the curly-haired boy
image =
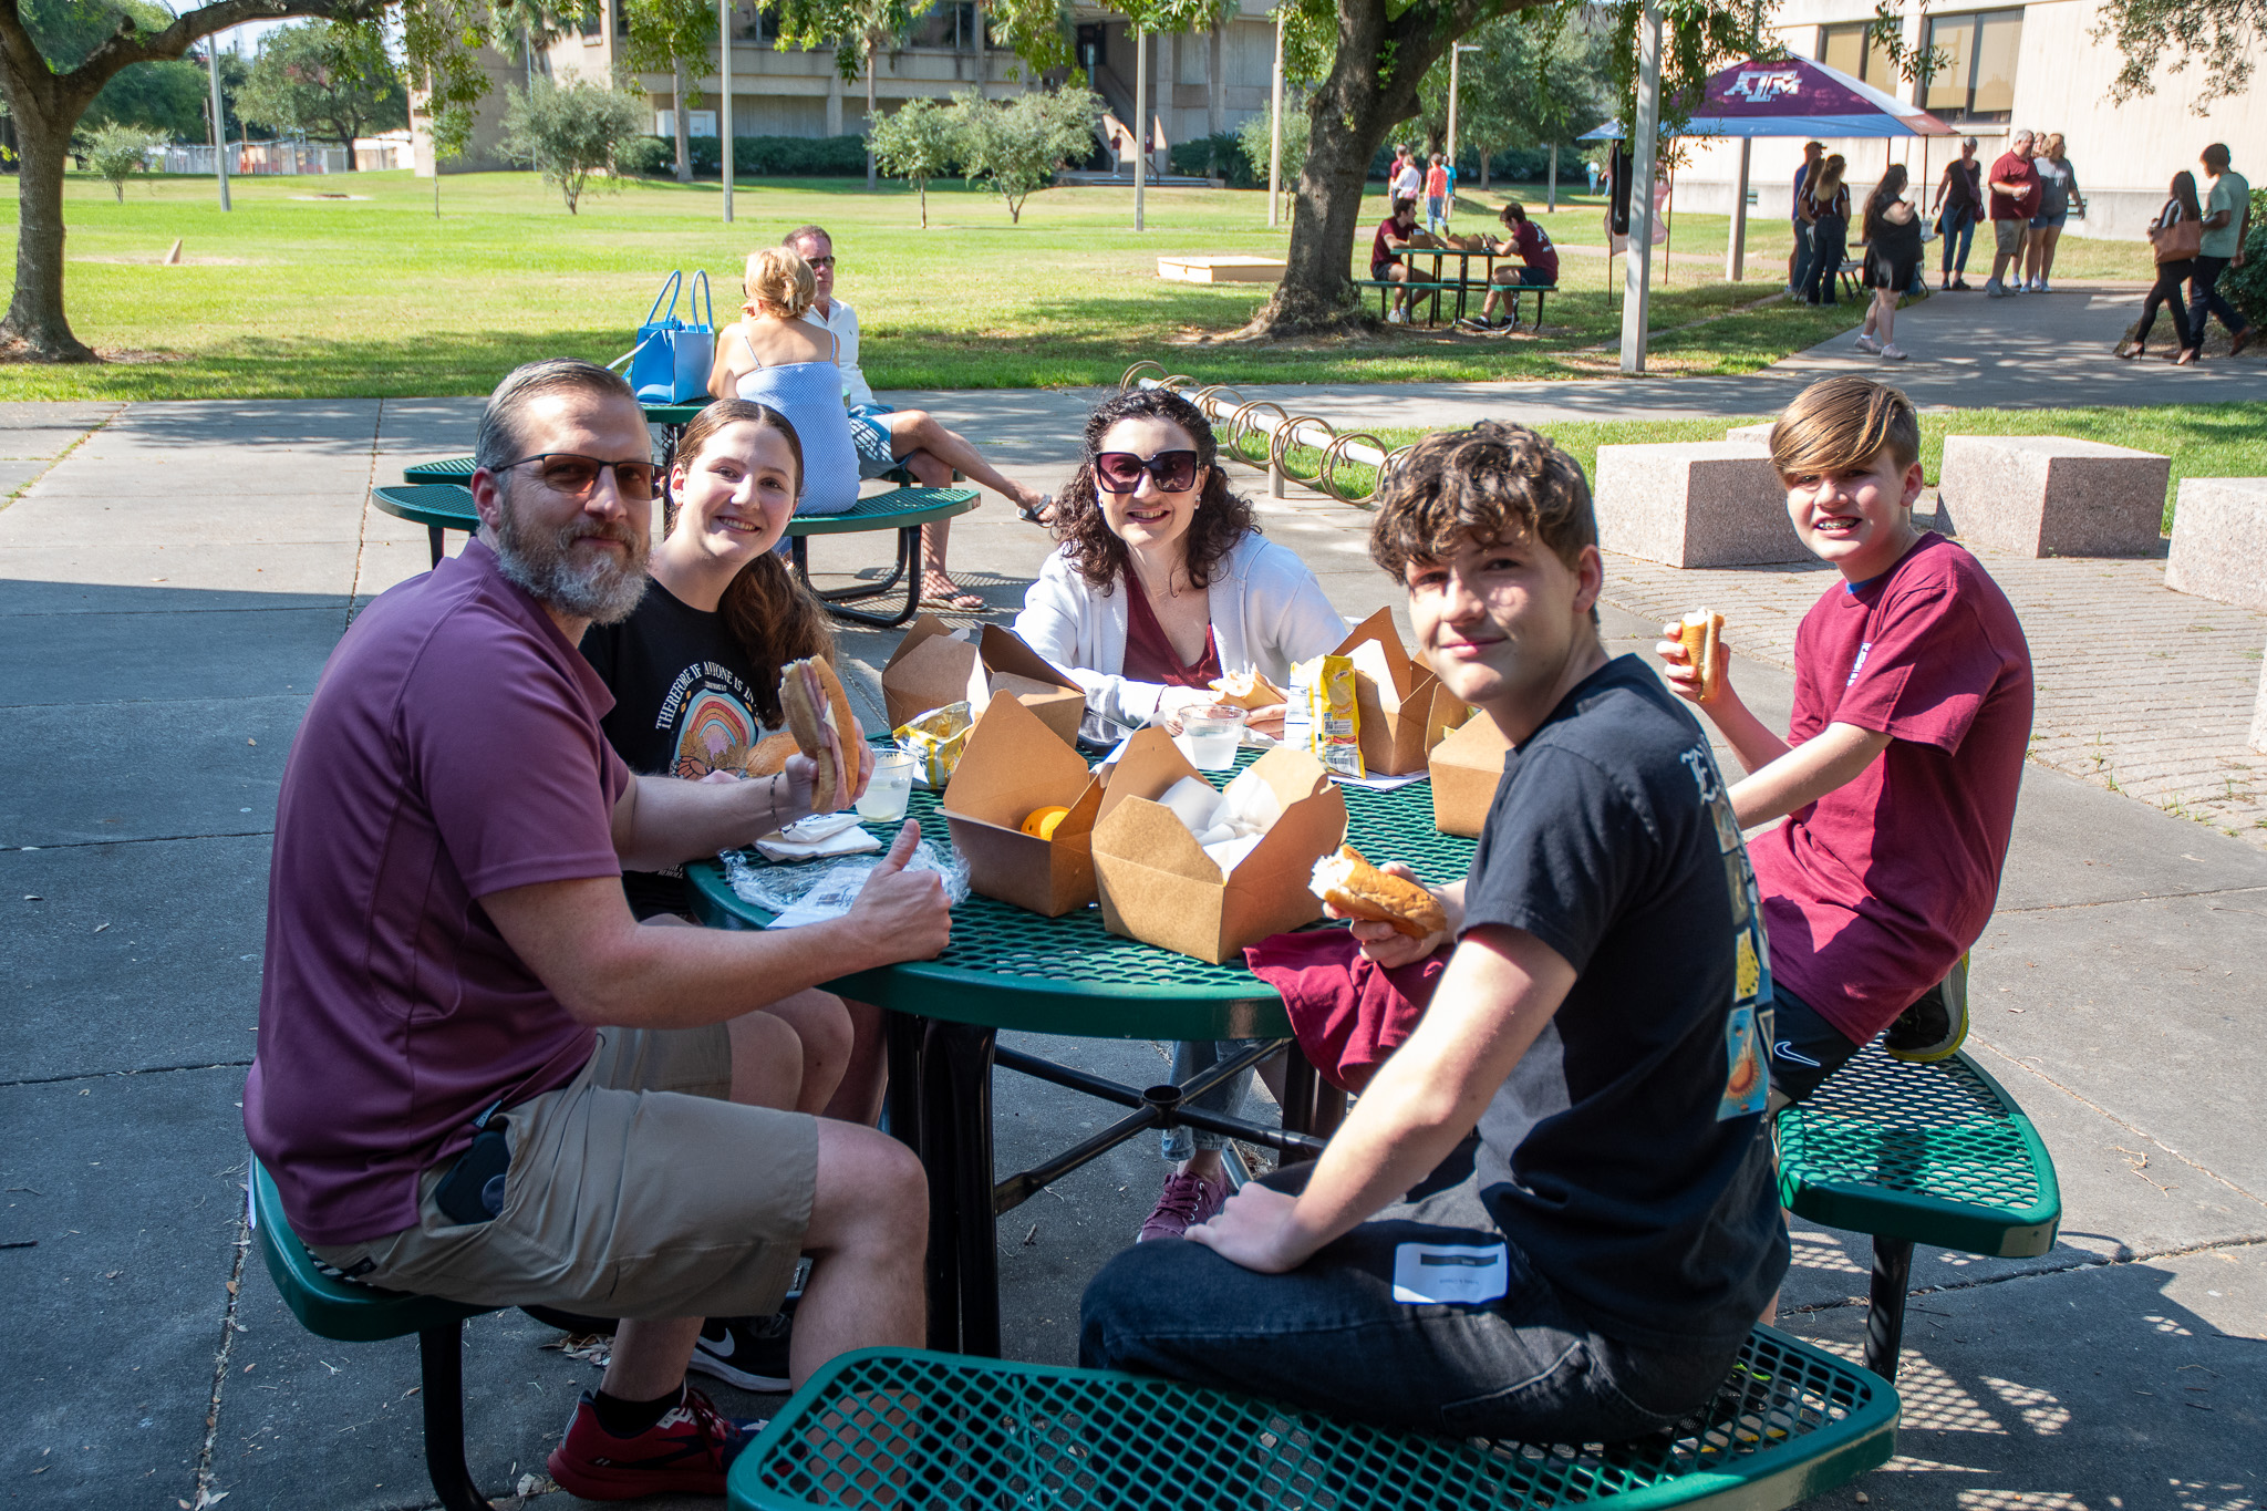
[[[1274,791],[1283,816],[1222,874],[1188,825],[1156,802],[1181,777],[1206,782],[1204,772],[1163,729],[1127,743],[1093,834],[1102,924],[1111,933],[1220,965],[1245,945],[1322,917],[1306,883],[1315,861],[1347,838],[1347,800],[1304,750],[1270,750],[1249,770]]]

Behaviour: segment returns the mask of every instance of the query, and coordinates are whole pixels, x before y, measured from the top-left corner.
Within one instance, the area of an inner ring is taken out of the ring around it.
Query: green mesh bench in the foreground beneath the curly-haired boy
[[[1607,1448],[1392,1432],[1111,1371],[866,1348],[771,1418],[735,1461],[728,1504],[1775,1511],[1884,1463],[1895,1427],[1895,1386],[1771,1328],[1707,1407]]]

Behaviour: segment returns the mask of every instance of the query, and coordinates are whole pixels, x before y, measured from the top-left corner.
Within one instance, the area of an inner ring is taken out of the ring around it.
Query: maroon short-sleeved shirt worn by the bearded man
[[[478,899],[617,877],[598,673],[474,539],[331,652],[283,766],[245,1135],[311,1244],[417,1223],[417,1173],[594,1033]]]

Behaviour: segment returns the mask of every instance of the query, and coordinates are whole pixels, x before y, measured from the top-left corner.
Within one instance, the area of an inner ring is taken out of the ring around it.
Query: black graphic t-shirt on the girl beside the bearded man
[[[696,609],[660,582],[646,587],[619,625],[583,632],[583,659],[614,691],[598,720],[623,763],[648,777],[705,777],[739,770],[762,736],[753,686],[757,671],[723,614]],[[621,872],[637,917],[685,913],[685,868]]]

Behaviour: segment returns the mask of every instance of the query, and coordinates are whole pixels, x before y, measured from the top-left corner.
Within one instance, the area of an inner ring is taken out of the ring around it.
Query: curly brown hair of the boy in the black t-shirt
[[[1483,419],[1428,435],[1381,480],[1369,560],[1396,580],[1440,562],[1460,539],[1532,537],[1569,569],[1598,544],[1582,467],[1528,426]]]

